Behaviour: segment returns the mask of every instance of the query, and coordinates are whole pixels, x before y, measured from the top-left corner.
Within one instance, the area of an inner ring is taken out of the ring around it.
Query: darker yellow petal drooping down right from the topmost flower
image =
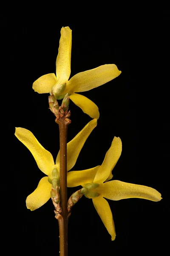
[[[91,118],[99,119],[99,108],[90,99],[77,93],[71,94],[69,98]]]

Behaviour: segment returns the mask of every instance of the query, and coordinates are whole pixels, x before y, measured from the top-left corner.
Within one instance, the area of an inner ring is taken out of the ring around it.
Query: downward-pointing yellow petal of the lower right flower
[[[94,198],[92,200],[94,203],[94,207],[96,208],[96,211],[98,212],[100,218],[102,219],[103,224],[108,230],[108,233],[111,235],[111,239],[113,241],[116,238],[116,232],[115,232],[111,208],[108,202],[105,200],[105,198],[102,198],[102,197]]]

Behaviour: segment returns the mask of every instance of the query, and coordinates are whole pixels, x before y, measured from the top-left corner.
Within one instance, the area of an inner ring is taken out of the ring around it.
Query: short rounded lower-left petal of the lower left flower
[[[26,207],[31,211],[40,208],[51,197],[51,184],[48,182],[48,177],[43,177],[38,183],[37,189],[28,195],[26,199]]]

